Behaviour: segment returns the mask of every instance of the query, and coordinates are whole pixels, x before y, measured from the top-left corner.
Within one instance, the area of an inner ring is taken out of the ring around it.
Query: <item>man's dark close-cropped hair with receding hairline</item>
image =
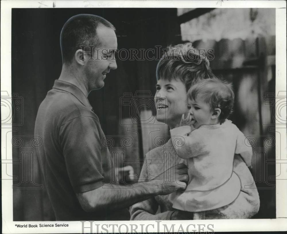
[[[88,46],[99,46],[99,38],[96,29],[106,26],[115,30],[115,27],[106,19],[98,15],[79,14],[74,15],[64,24],[60,35],[60,46],[63,63],[71,63],[75,52],[80,46],[86,46],[85,51],[90,51]]]

